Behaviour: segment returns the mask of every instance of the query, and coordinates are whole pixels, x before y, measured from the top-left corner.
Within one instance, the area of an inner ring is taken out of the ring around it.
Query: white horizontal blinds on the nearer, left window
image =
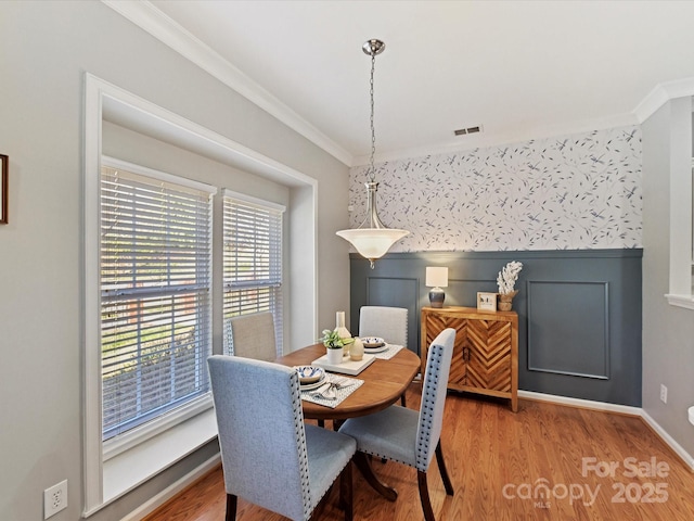
[[[215,189],[128,166],[101,177],[104,440],[209,390]]]

